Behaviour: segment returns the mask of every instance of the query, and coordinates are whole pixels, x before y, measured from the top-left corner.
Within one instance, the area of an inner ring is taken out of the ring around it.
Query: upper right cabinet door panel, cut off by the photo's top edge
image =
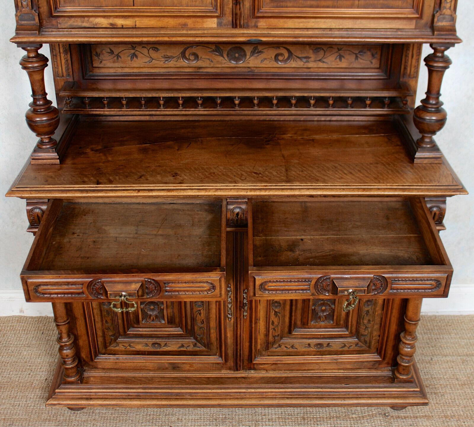
[[[435,0],[247,1],[250,27],[419,29],[430,27]]]

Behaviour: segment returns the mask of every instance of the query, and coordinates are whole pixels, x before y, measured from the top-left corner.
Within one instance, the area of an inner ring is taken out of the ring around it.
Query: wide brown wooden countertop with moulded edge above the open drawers
[[[410,160],[387,120],[81,119],[60,165],[22,170],[7,196],[453,196],[446,160]]]

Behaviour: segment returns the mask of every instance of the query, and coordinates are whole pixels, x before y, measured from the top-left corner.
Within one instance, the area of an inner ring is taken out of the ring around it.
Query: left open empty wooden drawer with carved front
[[[26,300],[224,299],[225,203],[139,200],[50,200],[21,273]]]

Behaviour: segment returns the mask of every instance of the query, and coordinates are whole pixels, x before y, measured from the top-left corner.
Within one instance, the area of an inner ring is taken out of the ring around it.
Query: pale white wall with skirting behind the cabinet
[[[38,315],[50,313],[49,304],[22,302],[18,277],[33,240],[33,236],[26,232],[25,201],[3,197],[36,142],[24,119],[31,98],[27,74],[18,65],[23,51],[9,43],[9,37],[13,36],[15,29],[13,5],[13,0],[5,0],[0,15],[0,315]],[[453,65],[446,73],[442,99],[449,116],[437,141],[465,187],[474,195],[473,22],[473,2],[460,0],[457,28],[464,43],[448,51]],[[47,46],[43,52],[50,56]],[[429,52],[429,46],[425,46],[424,56]],[[426,69],[422,67],[418,99],[422,98],[426,90],[426,78]],[[46,69],[46,89],[51,99],[54,99],[51,67]],[[472,195],[448,199],[445,220],[447,231],[443,231],[441,237],[455,267],[453,285],[447,300],[425,300],[425,312],[474,310],[473,206]]]

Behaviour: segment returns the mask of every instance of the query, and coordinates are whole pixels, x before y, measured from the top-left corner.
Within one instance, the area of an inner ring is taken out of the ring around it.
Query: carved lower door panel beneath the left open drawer
[[[109,302],[84,304],[85,328],[94,353],[89,366],[137,369],[214,370],[229,363],[222,330],[223,302],[142,301],[118,313]],[[77,319],[77,316],[76,316]],[[84,335],[79,346],[87,348]]]

